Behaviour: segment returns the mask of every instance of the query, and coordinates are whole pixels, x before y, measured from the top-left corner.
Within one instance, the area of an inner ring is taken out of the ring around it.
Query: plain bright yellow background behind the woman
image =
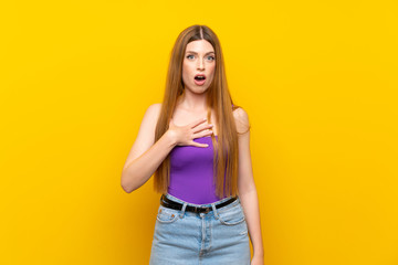
[[[206,24],[251,124],[268,265],[398,264],[396,1],[3,1],[0,264],[148,264],[121,173]]]

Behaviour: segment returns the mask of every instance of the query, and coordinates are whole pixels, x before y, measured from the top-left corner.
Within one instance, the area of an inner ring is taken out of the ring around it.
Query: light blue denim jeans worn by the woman
[[[159,205],[149,265],[250,265],[248,225],[239,198],[219,209],[216,205],[230,198],[201,204],[212,211],[193,213],[185,211],[186,205],[199,204],[166,197],[184,206]]]

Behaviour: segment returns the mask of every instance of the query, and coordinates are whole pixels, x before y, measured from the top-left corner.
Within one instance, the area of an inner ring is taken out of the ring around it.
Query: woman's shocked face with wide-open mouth
[[[198,40],[187,44],[182,62],[182,81],[186,89],[196,94],[206,92],[213,80],[214,68],[216,54],[210,42]],[[197,77],[198,75],[202,77]]]

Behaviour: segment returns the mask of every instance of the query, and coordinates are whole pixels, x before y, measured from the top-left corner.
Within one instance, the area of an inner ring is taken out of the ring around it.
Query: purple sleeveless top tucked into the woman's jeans
[[[216,140],[218,139],[217,136]],[[216,195],[213,183],[213,145],[210,136],[193,139],[208,147],[176,146],[170,152],[168,193],[186,202],[208,204],[223,198]]]

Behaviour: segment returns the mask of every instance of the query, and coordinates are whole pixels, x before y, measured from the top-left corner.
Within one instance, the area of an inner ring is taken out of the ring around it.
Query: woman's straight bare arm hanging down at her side
[[[248,130],[249,117],[242,109],[238,108],[233,112],[239,132]],[[248,223],[250,240],[253,245],[252,264],[263,264],[263,242],[260,222],[260,206],[258,193],[253,179],[251,155],[250,155],[250,130],[242,135],[238,135],[239,145],[239,177],[238,190],[239,198],[242,202],[244,215]]]

